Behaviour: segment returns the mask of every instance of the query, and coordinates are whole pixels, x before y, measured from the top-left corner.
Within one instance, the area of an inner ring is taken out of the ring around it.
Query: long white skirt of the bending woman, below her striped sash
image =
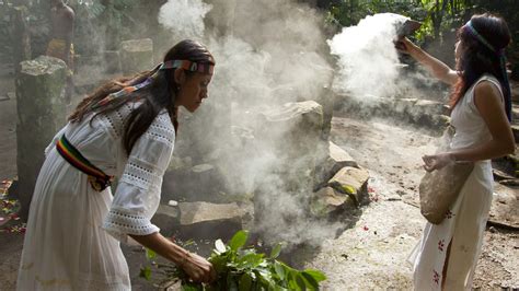
[[[18,290],[130,290],[119,243],[102,229],[112,199],[50,150],[31,203]]]

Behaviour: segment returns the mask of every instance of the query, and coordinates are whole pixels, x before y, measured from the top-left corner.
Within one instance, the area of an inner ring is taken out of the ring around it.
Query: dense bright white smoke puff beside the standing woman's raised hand
[[[393,42],[396,24],[405,20],[407,18],[392,13],[370,15],[328,40],[341,66],[334,88],[353,96],[393,95],[397,91],[400,66]]]

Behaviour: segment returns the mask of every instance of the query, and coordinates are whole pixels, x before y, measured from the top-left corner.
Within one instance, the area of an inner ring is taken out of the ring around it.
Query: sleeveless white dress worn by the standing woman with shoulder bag
[[[474,88],[482,81],[492,82],[500,91],[499,82],[491,75],[483,75],[466,91],[451,114],[451,124],[455,128],[452,149],[475,148],[492,139],[474,104]],[[491,210],[493,183],[491,161],[476,162],[441,224],[426,224],[422,241],[410,257],[414,266],[415,290],[441,290],[443,280],[445,290],[472,288],[472,277]],[[449,242],[452,243],[443,279]]]

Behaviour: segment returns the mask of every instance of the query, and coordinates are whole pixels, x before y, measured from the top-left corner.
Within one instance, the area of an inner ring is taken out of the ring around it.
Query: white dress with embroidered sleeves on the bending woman
[[[130,290],[119,242],[127,234],[159,229],[150,222],[159,207],[162,176],[173,152],[174,127],[165,110],[137,140],[129,156],[122,146],[124,118],[138,104],[68,124],[46,149],[31,203],[18,290]],[[56,150],[65,133],[83,156],[118,178],[113,196],[96,193],[86,175]]]

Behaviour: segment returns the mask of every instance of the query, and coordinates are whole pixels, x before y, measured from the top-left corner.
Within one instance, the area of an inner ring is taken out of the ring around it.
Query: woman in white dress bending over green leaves
[[[150,222],[173,151],[177,108],[198,108],[214,66],[205,46],[183,40],[153,70],[111,81],[78,105],[45,151],[18,290],[130,290],[119,242],[140,243],[194,281],[215,279],[209,261]]]

